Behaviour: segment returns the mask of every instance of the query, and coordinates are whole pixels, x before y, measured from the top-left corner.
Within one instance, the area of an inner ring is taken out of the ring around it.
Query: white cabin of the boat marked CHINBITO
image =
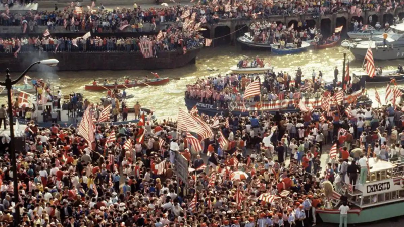
[[[355,191],[349,185],[348,201],[361,208],[404,200],[404,163],[369,159],[370,174],[364,185],[355,185]]]

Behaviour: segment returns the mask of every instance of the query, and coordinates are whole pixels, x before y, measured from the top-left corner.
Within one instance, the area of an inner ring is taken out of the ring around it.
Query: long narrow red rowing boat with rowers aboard
[[[166,78],[156,78],[148,81],[135,81],[134,83],[129,84],[107,84],[107,85],[85,85],[85,90],[89,91],[106,91],[108,89],[113,90],[114,88],[125,89],[131,87],[145,87],[145,86],[157,86],[163,85],[170,81],[170,79]]]

